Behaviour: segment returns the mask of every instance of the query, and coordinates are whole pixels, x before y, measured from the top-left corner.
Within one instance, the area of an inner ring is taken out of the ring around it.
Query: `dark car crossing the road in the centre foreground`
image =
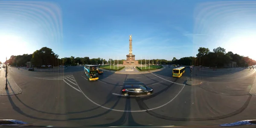
[[[153,89],[144,85],[125,85],[122,89],[122,94],[128,95],[150,95],[153,93]]]

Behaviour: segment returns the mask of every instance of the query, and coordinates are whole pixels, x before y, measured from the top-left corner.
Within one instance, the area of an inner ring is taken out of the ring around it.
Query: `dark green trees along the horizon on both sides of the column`
[[[23,54],[23,55],[12,55],[9,60],[5,63],[9,63],[12,66],[26,66],[26,62],[31,61],[32,65],[35,67],[40,67],[41,65],[71,65],[76,66],[78,64],[122,64],[122,60],[113,60],[112,58],[106,60],[103,58],[89,58],[89,57],[65,57],[58,58],[59,55],[55,54],[52,49],[48,47],[42,47],[39,50],[33,52],[33,54]],[[139,64],[180,64],[180,65],[202,65],[204,67],[225,67],[231,61],[235,61],[239,67],[247,67],[256,64],[256,61],[244,57],[233,52],[227,52],[226,49],[218,47],[213,49],[211,52],[208,48],[200,47],[198,49],[198,54],[196,57],[183,57],[176,59],[175,57],[172,61],[167,61],[165,59],[151,59],[151,60],[138,60]]]

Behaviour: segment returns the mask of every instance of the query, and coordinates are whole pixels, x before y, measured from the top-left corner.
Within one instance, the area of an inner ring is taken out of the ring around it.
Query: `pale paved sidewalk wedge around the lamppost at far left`
[[[7,87],[8,90],[5,89],[6,87],[6,77],[5,77],[5,69],[0,69],[0,96],[10,96],[10,95],[17,95],[22,93],[20,87],[15,83],[10,75],[7,76]]]

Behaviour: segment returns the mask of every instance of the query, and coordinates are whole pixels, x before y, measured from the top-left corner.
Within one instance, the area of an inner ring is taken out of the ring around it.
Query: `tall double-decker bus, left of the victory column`
[[[84,73],[89,81],[96,81],[99,79],[97,65],[84,65]]]

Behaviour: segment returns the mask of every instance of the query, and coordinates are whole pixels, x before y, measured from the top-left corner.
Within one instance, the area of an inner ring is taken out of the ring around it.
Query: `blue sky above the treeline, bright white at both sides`
[[[129,35],[136,59],[172,60],[219,46],[256,59],[255,15],[255,2],[238,0],[1,1],[0,41],[8,49],[0,61],[41,47],[60,58],[125,59]]]

